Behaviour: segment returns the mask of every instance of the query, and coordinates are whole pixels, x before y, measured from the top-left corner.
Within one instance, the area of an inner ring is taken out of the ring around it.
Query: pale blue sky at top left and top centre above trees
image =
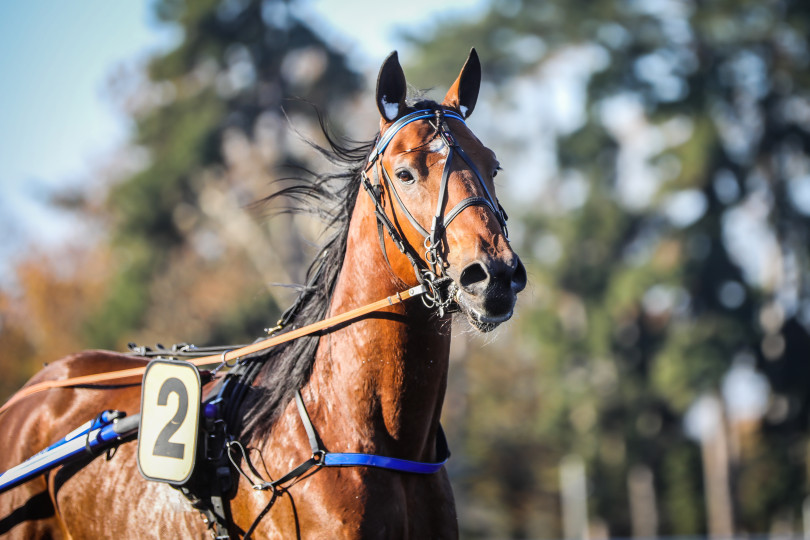
[[[316,28],[333,33],[361,68],[396,48],[396,29],[430,28],[480,10],[482,0],[410,0],[385,9],[363,0],[303,0]],[[58,243],[66,216],[38,201],[81,185],[122,146],[130,124],[106,97],[111,73],[172,42],[147,0],[0,2],[0,282],[10,249]],[[414,17],[412,14],[419,14]],[[357,32],[357,21],[368,31]],[[10,241],[13,238],[14,241]]]

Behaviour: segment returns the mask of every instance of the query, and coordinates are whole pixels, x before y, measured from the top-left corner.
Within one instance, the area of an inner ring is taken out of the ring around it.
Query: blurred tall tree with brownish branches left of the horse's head
[[[245,206],[268,194],[280,164],[305,164],[285,138],[282,107],[291,116],[313,111],[290,98],[329,110],[361,83],[294,6],[154,3],[180,39],[151,59],[142,84],[117,83],[148,164],[109,195],[117,268],[85,326],[92,346],[244,340],[275,320],[266,285],[298,278],[290,267],[305,256],[294,228],[274,234]]]

